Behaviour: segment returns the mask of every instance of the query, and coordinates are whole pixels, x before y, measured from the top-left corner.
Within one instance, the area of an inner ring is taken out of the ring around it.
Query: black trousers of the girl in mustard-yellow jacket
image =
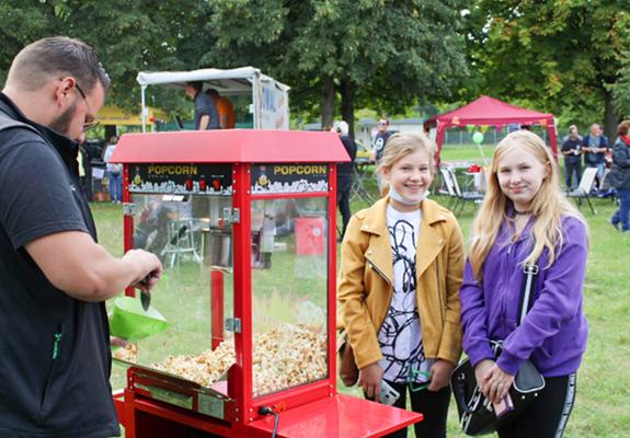
[[[400,399],[393,404],[396,407],[406,408],[406,384],[388,382],[400,393]],[[424,419],[416,423],[416,438],[444,438],[446,437],[446,418],[448,416],[448,403],[450,402],[450,388],[446,387],[437,392],[422,390],[409,391],[411,396],[411,410],[424,415]],[[397,430],[386,436],[387,438],[406,438],[406,428]]]

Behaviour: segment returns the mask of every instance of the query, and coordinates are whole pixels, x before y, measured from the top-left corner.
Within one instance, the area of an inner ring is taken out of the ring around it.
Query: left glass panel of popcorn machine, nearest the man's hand
[[[224,331],[224,319],[233,316],[232,226],[224,217],[231,200],[133,195],[135,247],[158,255],[164,267],[151,307],[170,323],[137,342],[136,365],[202,387],[226,379],[234,362],[233,335]]]

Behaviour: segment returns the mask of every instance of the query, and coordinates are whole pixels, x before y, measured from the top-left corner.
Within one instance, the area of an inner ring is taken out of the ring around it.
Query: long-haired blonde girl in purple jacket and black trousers
[[[483,394],[508,395],[520,365],[531,359],[546,387],[501,438],[561,438],[586,350],[583,283],[587,227],[560,191],[545,141],[520,130],[494,150],[488,192],[472,223],[461,298],[463,349]],[[525,264],[536,264],[534,304],[517,324]],[[495,358],[491,341],[502,342]]]

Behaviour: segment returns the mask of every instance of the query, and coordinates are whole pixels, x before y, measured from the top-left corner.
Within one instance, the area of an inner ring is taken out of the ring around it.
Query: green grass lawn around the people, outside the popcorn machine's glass
[[[491,157],[491,149],[485,148]],[[445,149],[444,161],[479,159],[476,148]],[[374,191],[374,184],[368,186]],[[448,199],[434,196],[446,205]],[[594,200],[597,214],[591,215],[584,205],[582,211],[591,230],[591,250],[584,284],[585,312],[589,323],[588,349],[577,373],[577,397],[565,437],[630,436],[630,235],[620,234],[609,223],[615,206],[608,199]],[[366,204],[355,201],[353,211]],[[113,254],[123,253],[122,208],[110,204],[93,204],[101,243]],[[468,238],[474,207],[468,205],[459,217]],[[124,384],[123,370],[115,367],[114,388]],[[356,390],[340,390],[358,394]],[[413,436],[413,433],[410,434]],[[451,403],[449,436],[463,437]]]

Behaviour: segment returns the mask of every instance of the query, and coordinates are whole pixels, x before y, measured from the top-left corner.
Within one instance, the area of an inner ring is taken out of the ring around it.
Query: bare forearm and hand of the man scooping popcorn
[[[83,301],[104,301],[145,278],[141,288],[150,290],[162,273],[154,254],[131,250],[115,258],[81,231],[48,234],[25,249],[57,289]]]

